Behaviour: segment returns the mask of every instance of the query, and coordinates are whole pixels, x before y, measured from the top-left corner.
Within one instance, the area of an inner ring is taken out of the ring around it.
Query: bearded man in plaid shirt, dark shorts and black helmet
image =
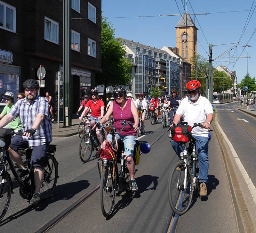
[[[43,164],[47,158],[48,144],[52,141],[51,121],[48,101],[38,95],[38,82],[33,79],[26,80],[23,88],[26,98],[15,103],[9,114],[2,118],[0,128],[17,116],[21,119],[23,135],[16,134],[11,139],[9,154],[19,167],[19,176],[23,177],[29,174],[29,170],[24,166],[18,150],[33,147],[30,163],[34,166],[35,192],[30,203],[36,205],[41,201]]]

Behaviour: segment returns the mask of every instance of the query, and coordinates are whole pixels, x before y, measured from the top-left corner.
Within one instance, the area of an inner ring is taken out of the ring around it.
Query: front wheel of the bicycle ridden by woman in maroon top
[[[113,174],[113,163],[107,166],[101,176],[100,198],[101,198],[101,211],[105,217],[112,214],[115,205],[115,195],[117,190],[116,173]],[[117,172],[117,169],[115,169]]]

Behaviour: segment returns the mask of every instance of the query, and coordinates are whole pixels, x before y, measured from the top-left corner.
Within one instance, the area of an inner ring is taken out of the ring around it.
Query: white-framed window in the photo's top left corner
[[[16,8],[0,1],[0,28],[16,32]]]

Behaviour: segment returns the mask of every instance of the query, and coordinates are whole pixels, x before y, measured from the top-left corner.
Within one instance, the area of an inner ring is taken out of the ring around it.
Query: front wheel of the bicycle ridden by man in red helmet
[[[168,196],[171,209],[178,215],[186,213],[189,209],[193,196],[193,177],[191,169],[185,167],[183,161],[178,161],[171,170],[168,179]],[[184,188],[184,181],[185,188]]]

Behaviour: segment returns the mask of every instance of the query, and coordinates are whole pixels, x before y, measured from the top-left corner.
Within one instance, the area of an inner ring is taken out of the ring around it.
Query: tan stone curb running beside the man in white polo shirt
[[[231,163],[231,159],[229,157],[228,149],[225,146],[225,142],[222,138],[222,134],[218,130],[218,126],[216,123],[213,124],[213,128],[215,134],[217,136],[217,140],[219,143],[219,147],[221,149],[222,158],[224,160],[224,166],[226,169],[227,179],[229,181],[229,187],[231,191],[231,196],[233,200],[233,205],[235,209],[235,213],[237,216],[237,224],[238,230],[241,233],[253,233],[255,232],[252,224],[252,220],[248,213],[248,208],[243,197],[237,175],[235,174],[234,167]]]

